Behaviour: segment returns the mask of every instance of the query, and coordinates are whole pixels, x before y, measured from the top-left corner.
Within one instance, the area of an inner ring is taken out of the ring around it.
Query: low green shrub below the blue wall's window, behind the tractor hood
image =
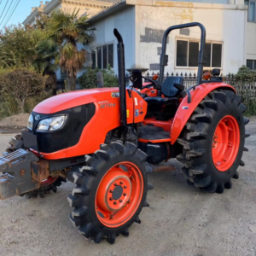
[[[87,71],[79,77],[79,84],[81,84],[82,88],[90,89],[97,87],[97,78],[96,73],[102,72],[104,87],[117,87],[119,86],[119,79],[115,77],[113,70],[108,65],[106,69],[91,67],[86,68]]]

